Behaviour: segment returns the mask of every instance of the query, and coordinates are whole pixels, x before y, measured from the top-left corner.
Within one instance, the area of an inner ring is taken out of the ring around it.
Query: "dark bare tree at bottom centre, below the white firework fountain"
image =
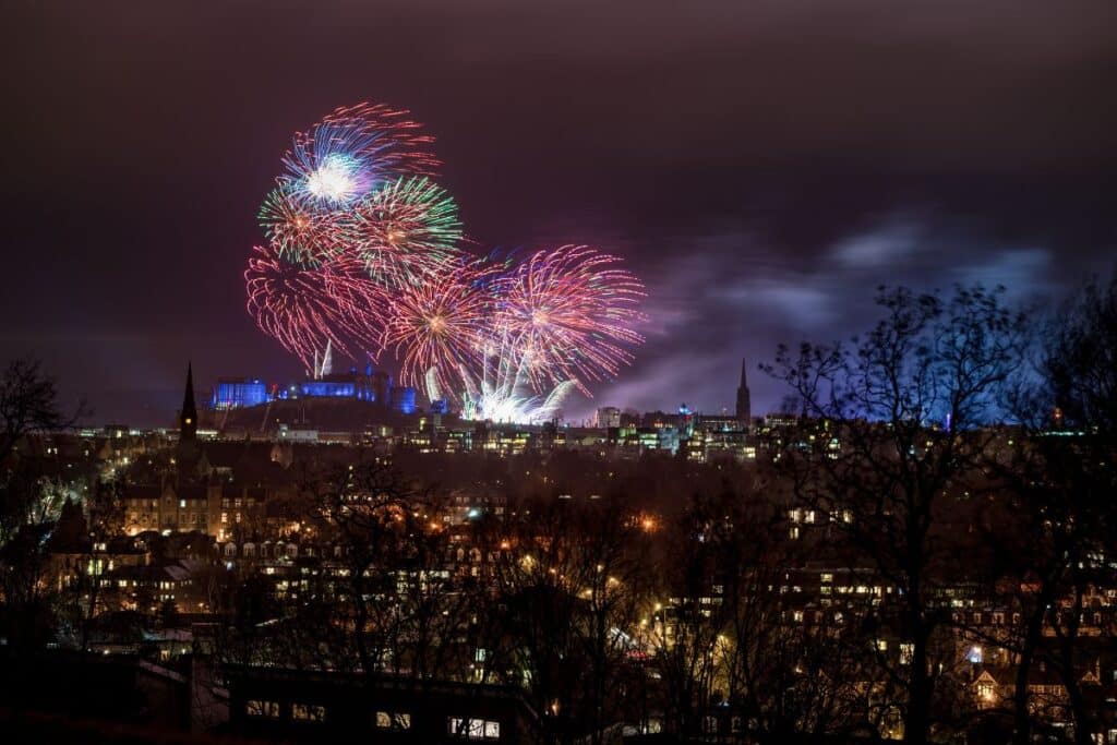
[[[554,736],[588,729],[599,742],[627,690],[646,538],[620,498],[521,503],[496,529],[499,658]]]

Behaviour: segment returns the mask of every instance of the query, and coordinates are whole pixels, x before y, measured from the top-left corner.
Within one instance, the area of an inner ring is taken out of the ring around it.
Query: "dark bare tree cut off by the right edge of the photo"
[[[1039,332],[1035,364],[1006,391],[1015,437],[987,466],[1006,494],[1005,529],[992,539],[1021,614],[1009,640],[1019,660],[1014,742],[1046,726],[1028,685],[1039,662],[1062,681],[1075,739],[1085,744],[1097,719],[1079,682],[1089,662],[1081,620],[1091,590],[1117,580],[1107,558],[1117,545],[1117,275],[1087,285]]]

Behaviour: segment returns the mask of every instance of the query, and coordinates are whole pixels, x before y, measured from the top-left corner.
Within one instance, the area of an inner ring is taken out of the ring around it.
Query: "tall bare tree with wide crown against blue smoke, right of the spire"
[[[903,690],[905,741],[924,743],[944,622],[933,594],[951,557],[936,524],[980,472],[994,437],[982,428],[1021,363],[1023,318],[981,287],[948,300],[881,288],[878,304],[885,317],[865,336],[798,354],[781,347],[766,370],[812,420],[781,452],[798,499],[896,590],[878,617],[908,647],[904,665],[885,669]]]

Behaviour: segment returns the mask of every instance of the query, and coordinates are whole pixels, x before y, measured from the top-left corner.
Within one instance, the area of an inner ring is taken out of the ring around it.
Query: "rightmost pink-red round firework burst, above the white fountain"
[[[612,378],[643,342],[632,329],[643,315],[643,285],[620,259],[586,246],[542,250],[498,281],[495,328],[510,335],[536,391]]]

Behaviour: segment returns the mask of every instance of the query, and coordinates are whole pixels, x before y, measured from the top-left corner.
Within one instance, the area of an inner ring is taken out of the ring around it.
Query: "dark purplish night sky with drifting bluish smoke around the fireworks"
[[[299,373],[245,312],[256,212],[292,133],[366,99],[438,139],[480,245],[594,243],[646,281],[647,344],[573,418],[732,407],[742,355],[849,335],[880,283],[1050,306],[1117,256],[1113,0],[80,0],[3,26],[0,360],[99,422],[170,423],[188,359],[200,397]]]

